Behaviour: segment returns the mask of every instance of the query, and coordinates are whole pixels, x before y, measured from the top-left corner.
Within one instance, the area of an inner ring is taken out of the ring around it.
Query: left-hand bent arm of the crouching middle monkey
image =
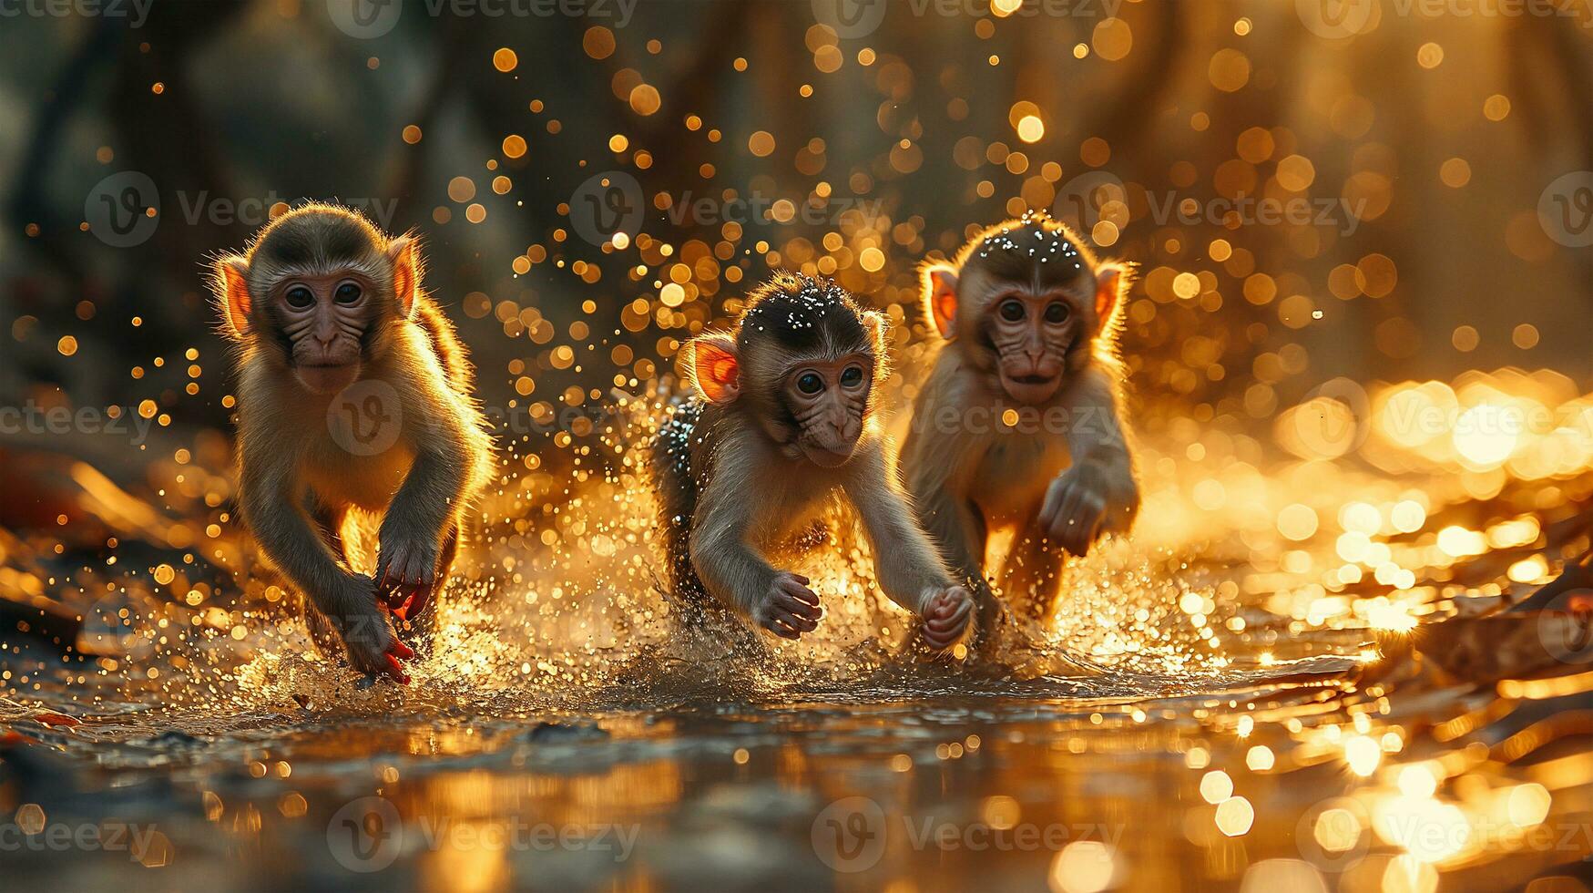
[[[726,439],[714,456],[691,518],[691,566],[709,595],[795,639],[819,625],[819,596],[808,577],[774,569],[749,542],[758,506],[758,450],[750,437]]]

